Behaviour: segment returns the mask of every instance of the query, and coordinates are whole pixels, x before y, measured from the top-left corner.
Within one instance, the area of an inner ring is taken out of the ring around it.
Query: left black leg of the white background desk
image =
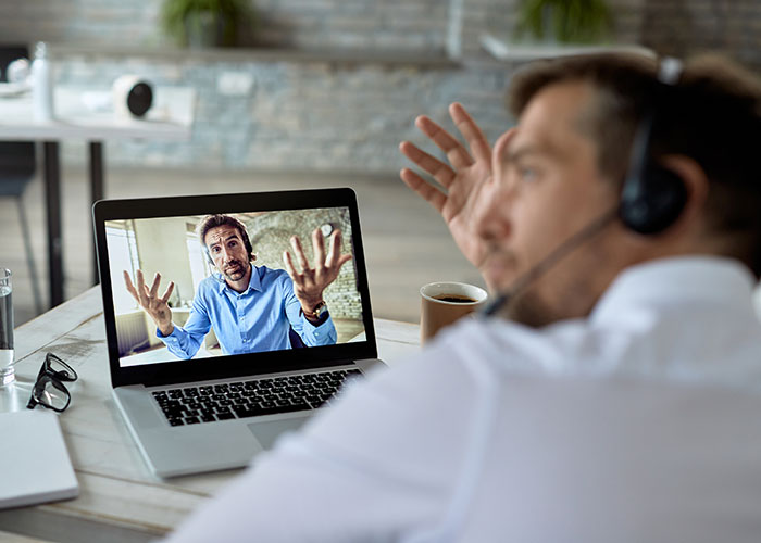
[[[45,201],[48,211],[48,270],[50,307],[63,303],[63,240],[61,236],[61,167],[58,141],[42,142]]]

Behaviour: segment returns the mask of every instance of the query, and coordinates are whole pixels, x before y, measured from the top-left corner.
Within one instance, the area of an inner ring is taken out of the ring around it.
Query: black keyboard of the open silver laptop
[[[316,409],[329,404],[358,369],[338,369],[248,381],[159,390],[153,397],[172,426],[198,425],[275,413]]]

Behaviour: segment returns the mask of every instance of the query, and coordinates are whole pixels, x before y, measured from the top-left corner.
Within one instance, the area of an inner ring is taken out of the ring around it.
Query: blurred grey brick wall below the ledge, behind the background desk
[[[414,128],[427,113],[447,123],[462,101],[494,140],[510,126],[503,106],[510,71],[427,70],[414,65],[330,62],[211,62],[120,59],[98,53],[68,58],[59,84],[107,90],[125,72],[155,85],[191,86],[198,103],[190,142],[113,141],[111,165],[201,166],[323,172],[397,172],[401,139],[424,143]],[[247,74],[250,91],[228,96],[224,74]],[[83,161],[84,142],[66,141],[64,160]]]

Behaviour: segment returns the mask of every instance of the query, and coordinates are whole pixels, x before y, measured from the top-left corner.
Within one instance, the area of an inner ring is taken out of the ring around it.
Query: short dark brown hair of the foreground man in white
[[[661,96],[657,71],[654,59],[633,54],[533,63],[514,76],[508,103],[517,117],[549,85],[589,84],[594,99],[579,131],[596,142],[600,172],[623,182],[637,126]],[[726,254],[761,277],[761,81],[727,59],[697,56],[685,63],[669,100],[658,100],[652,157],[682,154],[700,164],[710,181],[710,226],[731,233]]]

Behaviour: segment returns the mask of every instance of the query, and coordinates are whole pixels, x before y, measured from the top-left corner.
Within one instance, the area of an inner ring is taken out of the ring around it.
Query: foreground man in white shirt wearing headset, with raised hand
[[[419,117],[447,162],[403,142],[435,182],[401,177],[509,318],[355,384],[171,541],[758,541],[761,85],[661,72],[529,66],[494,147]]]

